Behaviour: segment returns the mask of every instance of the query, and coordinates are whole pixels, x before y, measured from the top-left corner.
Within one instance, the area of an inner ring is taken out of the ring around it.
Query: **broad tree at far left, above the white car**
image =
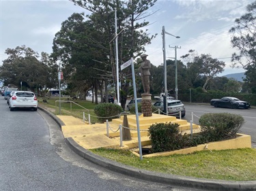
[[[37,91],[52,82],[50,67],[40,61],[39,54],[31,48],[8,48],[5,54],[8,54],[8,58],[3,60],[0,68],[0,77],[5,84],[20,86],[20,82],[23,82],[24,88]]]

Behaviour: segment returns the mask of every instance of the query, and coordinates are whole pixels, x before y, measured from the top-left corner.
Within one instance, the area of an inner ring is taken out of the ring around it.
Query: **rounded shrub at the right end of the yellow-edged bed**
[[[199,119],[201,135],[209,142],[235,138],[242,124],[244,118],[237,114],[203,114]]]

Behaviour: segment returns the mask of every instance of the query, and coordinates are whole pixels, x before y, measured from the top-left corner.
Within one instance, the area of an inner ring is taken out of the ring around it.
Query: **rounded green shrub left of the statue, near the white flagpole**
[[[94,107],[94,112],[98,116],[100,122],[119,118],[119,114],[123,111],[122,107],[113,103],[101,103]]]

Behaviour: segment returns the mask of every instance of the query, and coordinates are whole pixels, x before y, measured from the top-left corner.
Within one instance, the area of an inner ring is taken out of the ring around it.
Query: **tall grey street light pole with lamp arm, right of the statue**
[[[164,112],[165,114],[167,114],[168,116],[168,104],[167,104],[167,96],[168,96],[168,92],[167,92],[167,63],[166,63],[166,52],[165,52],[165,34],[167,35],[171,35],[170,33],[167,33],[165,31],[165,26],[162,26],[162,52],[163,52],[163,57],[164,57],[164,69],[165,69],[165,75],[164,75],[164,82],[165,82],[165,96],[163,97],[164,99]],[[179,39],[179,36],[175,36],[175,35],[171,35],[177,39]]]

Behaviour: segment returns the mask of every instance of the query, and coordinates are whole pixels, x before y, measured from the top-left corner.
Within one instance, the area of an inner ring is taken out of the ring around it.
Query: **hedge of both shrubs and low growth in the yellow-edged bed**
[[[180,150],[198,144],[236,138],[236,133],[242,124],[244,124],[244,118],[240,115],[204,114],[199,119],[201,132],[193,134],[192,137],[189,134],[182,135],[179,124],[171,122],[152,124],[148,133],[152,142],[151,152]]]

